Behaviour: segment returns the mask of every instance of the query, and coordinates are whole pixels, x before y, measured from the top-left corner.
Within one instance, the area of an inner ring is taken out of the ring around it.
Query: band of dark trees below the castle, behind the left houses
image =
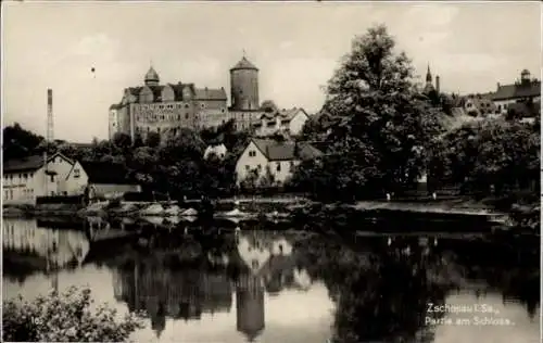
[[[126,177],[140,182],[146,191],[174,198],[230,193],[236,186],[236,162],[249,140],[247,134],[236,132],[232,122],[201,134],[181,129],[164,137],[150,135],[146,140],[136,137],[134,143],[125,134],[116,134],[112,140],[93,139],[90,144],[73,144],[46,143],[18,125],[5,128],[4,132],[13,137],[4,147],[10,157],[47,149],[49,153],[61,152],[78,161],[119,163],[127,167]],[[204,160],[207,144],[216,143],[225,144],[226,156],[219,158],[212,154]]]

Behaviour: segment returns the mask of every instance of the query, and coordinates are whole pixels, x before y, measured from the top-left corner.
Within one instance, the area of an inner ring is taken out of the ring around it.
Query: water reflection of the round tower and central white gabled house
[[[264,231],[240,232],[237,246],[248,271],[236,282],[237,328],[253,342],[265,328],[265,290],[277,293],[286,287],[307,289],[311,280],[304,269],[296,268],[292,245],[282,237]]]

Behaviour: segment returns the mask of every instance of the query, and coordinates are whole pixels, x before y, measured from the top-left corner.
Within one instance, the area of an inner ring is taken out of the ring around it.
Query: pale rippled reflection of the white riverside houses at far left
[[[46,268],[56,269],[71,263],[80,264],[90,245],[85,233],[74,230],[40,228],[35,219],[3,219],[2,246],[23,255],[45,259]]]

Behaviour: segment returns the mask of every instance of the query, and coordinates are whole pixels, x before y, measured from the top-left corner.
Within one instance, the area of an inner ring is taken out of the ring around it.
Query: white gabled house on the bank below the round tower
[[[268,174],[276,185],[288,180],[293,169],[304,160],[312,160],[323,153],[306,142],[276,141],[253,138],[236,164],[238,186],[248,177],[257,182]]]

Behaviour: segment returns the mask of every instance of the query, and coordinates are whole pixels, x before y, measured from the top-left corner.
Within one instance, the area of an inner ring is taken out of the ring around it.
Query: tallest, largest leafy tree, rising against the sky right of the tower
[[[353,40],[323,107],[336,119],[326,137],[330,151],[311,165],[316,169],[300,175],[326,175],[327,189],[352,198],[401,190],[426,172],[425,153],[431,137],[442,131],[441,113],[417,90],[409,60],[394,48],[384,26]],[[295,176],[294,181],[303,180]]]

